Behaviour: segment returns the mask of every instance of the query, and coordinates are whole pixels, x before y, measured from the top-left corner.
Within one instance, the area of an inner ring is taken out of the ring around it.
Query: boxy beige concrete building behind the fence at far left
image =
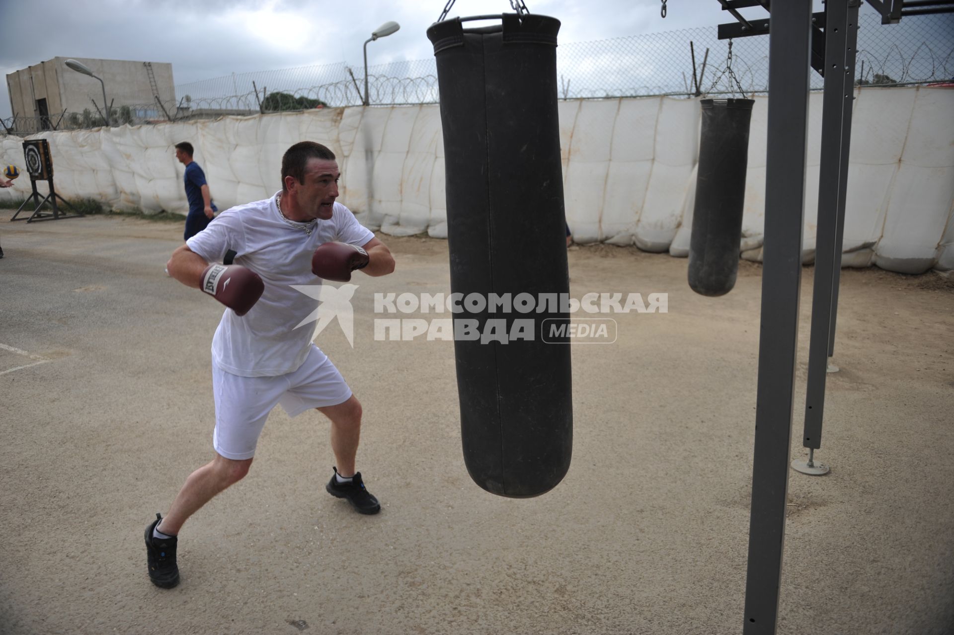
[[[96,108],[103,109],[103,85],[93,77],[67,67],[68,59],[71,58],[54,57],[7,75],[10,109],[14,117],[33,117],[38,123],[37,129],[48,130],[64,111],[70,116],[89,110],[94,117],[98,116]],[[106,98],[113,103],[114,112],[127,106],[135,120],[165,119],[165,113],[156,104],[154,95],[158,94],[165,108],[173,114],[176,89],[172,64],[88,57],[73,59],[103,80]]]

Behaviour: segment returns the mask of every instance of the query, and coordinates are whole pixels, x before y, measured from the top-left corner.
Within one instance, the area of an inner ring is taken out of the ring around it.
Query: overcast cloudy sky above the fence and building
[[[731,22],[717,0],[525,0],[559,18],[561,43],[610,39]],[[815,0],[820,6],[820,0]],[[427,27],[446,0],[0,0],[0,72],[56,56],[169,62],[175,83],[232,72],[347,62],[363,65],[371,31],[394,20],[401,31],[368,45],[371,66],[433,56]],[[817,9],[818,10],[818,9]],[[458,0],[449,16],[510,11],[508,0]],[[760,8],[745,10],[765,17]],[[93,80],[91,80],[93,81]],[[0,116],[10,116],[6,82]]]

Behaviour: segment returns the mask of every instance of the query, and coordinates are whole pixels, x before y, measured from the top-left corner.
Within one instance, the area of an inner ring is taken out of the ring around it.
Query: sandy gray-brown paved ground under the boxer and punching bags
[[[375,292],[449,292],[446,241],[382,236],[398,271],[356,279],[354,348],[337,328],[318,342],[363,401],[359,469],[383,512],[329,497],[326,423],[278,409],[249,477],[185,526],[182,584],[163,591],[142,530],[211,458],[221,313],[163,275],[180,232],[0,224],[0,632],[740,632],[759,266],[705,298],[684,259],[570,251],[575,297],[668,293],[669,312],[619,314],[614,344],[573,348],[570,473],[515,501],[467,476],[451,342],[373,337]],[[843,272],[835,360],[817,455],[832,472],[790,476],[778,632],[949,632],[951,285]]]

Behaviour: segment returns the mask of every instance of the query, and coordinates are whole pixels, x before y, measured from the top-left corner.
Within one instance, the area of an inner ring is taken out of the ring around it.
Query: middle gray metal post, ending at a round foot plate
[[[841,159],[847,157],[851,140],[850,114],[854,72],[852,65],[846,62],[849,32],[855,31],[854,26],[857,24],[856,20],[849,20],[849,4],[854,5],[857,18],[858,0],[828,0],[825,5],[825,86],[821,105],[819,221],[812,297],[812,336],[808,345],[805,427],[801,439],[805,447],[814,449],[821,447],[828,347],[834,339],[829,329],[832,326],[832,316],[837,310],[832,293],[840,275],[840,270],[835,268],[836,259],[840,260],[838,256],[841,254],[837,236],[839,211],[841,208],[843,222],[843,191],[848,180],[848,164]],[[850,28],[849,22],[852,24]],[[847,125],[845,113],[848,113],[849,117]]]

